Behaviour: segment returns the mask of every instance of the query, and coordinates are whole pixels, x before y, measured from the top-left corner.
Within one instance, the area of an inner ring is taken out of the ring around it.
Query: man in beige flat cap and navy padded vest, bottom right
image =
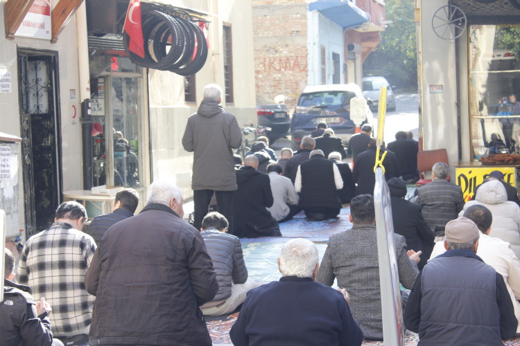
[[[449,221],[446,252],[417,277],[404,316],[421,346],[501,346],[517,331],[502,275],[476,255],[480,233],[466,217]]]

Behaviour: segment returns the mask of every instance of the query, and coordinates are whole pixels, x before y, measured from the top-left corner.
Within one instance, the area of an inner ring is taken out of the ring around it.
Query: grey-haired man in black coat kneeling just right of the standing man
[[[269,176],[258,170],[258,158],[245,156],[244,165],[236,171],[239,188],[233,196],[233,235],[239,238],[281,237],[278,222],[266,208],[274,199]]]

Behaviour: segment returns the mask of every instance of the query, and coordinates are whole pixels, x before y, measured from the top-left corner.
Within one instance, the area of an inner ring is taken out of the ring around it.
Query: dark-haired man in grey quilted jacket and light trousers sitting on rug
[[[200,235],[213,261],[218,281],[218,293],[215,298],[200,307],[205,316],[232,313],[244,302],[248,291],[257,286],[251,277],[248,278],[240,239],[228,235],[227,226],[227,219],[222,214],[210,212],[202,220],[200,228]]]

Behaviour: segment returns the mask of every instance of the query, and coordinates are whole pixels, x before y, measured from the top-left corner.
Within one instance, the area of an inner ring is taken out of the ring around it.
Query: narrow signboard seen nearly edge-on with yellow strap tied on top
[[[383,144],[383,129],[386,115],[386,87],[379,90],[379,119],[377,131],[377,154]],[[384,157],[383,157],[384,158]],[[404,346],[403,307],[399,286],[399,268],[395,251],[394,221],[390,190],[385,180],[384,163],[376,158],[376,185],[374,208],[376,210],[377,256],[379,259],[379,284],[381,287],[381,313],[385,346]],[[383,159],[384,162],[384,159]],[[383,167],[381,167],[381,165]],[[379,166],[379,167],[378,167]]]

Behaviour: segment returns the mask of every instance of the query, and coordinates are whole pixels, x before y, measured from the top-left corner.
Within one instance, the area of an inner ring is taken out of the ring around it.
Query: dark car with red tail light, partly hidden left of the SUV
[[[267,133],[270,143],[289,134],[291,116],[286,104],[279,104],[266,96],[257,95],[257,116],[258,125],[271,129]]]

